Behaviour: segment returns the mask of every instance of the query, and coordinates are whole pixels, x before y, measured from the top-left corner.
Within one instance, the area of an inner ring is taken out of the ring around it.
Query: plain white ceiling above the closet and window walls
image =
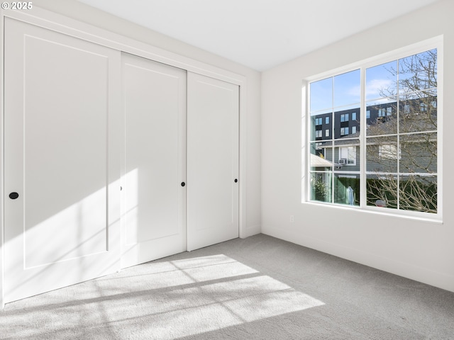
[[[438,0],[78,1],[264,71]]]

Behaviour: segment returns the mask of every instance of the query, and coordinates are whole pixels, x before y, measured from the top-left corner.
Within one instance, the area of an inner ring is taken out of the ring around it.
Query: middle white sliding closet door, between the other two
[[[186,71],[122,58],[124,268],[186,250]]]

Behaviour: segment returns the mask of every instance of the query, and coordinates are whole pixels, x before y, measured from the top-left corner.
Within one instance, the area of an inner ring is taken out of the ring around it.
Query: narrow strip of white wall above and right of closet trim
[[[247,181],[245,181],[247,208],[243,219],[245,220],[245,234],[242,236],[248,237],[260,232],[260,72],[75,0],[35,0],[33,5],[243,75],[247,81],[248,94],[246,126],[240,127],[246,129],[246,154],[242,160],[246,163],[243,165],[246,166],[247,177]]]

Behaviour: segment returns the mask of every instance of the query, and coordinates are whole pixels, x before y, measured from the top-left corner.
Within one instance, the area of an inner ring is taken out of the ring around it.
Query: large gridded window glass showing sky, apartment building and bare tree
[[[384,61],[309,82],[309,116],[331,113],[334,130],[308,140],[325,162],[309,162],[307,199],[439,217],[437,49]]]

